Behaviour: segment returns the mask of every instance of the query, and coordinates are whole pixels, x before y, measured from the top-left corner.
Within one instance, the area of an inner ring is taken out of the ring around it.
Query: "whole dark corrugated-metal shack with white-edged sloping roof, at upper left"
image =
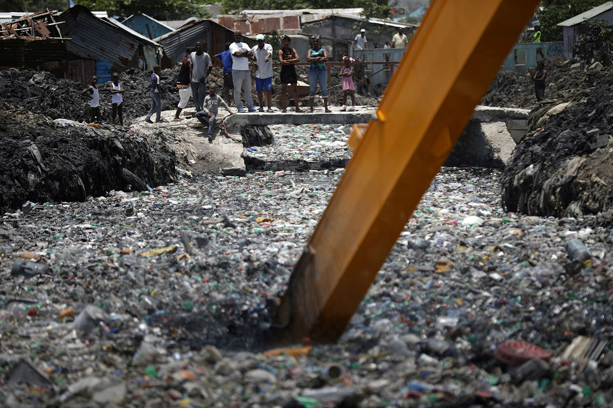
[[[58,17],[65,21],[62,32],[72,40],[66,48],[69,59],[108,60],[110,69],[153,69],[159,44],[107,17],[96,17],[85,6],[74,6]]]

